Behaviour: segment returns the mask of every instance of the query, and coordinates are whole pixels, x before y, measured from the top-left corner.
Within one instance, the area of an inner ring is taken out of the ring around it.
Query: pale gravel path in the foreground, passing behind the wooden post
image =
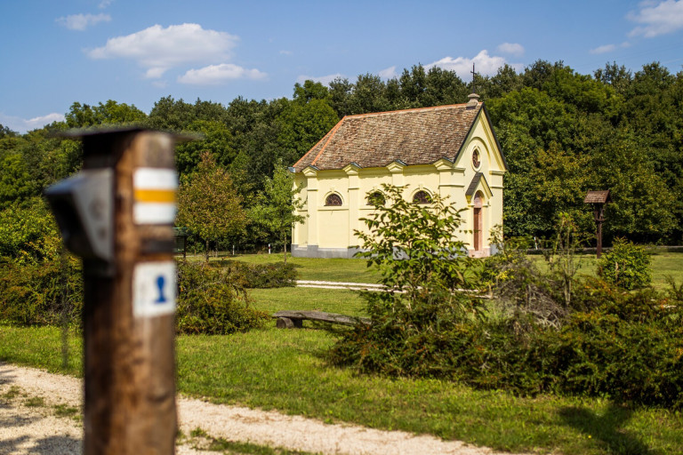
[[[0,455],[81,453],[81,379],[0,363]],[[57,414],[60,414],[58,416]],[[496,452],[430,435],[381,431],[354,425],[327,425],[316,419],[287,416],[238,406],[178,397],[183,434],[201,428],[213,438],[324,454],[456,454]],[[202,451],[202,438],[178,445],[180,455]],[[204,444],[205,446],[205,444]]]

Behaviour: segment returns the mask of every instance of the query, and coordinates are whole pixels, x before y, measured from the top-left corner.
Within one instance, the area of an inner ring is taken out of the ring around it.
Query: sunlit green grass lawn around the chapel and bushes
[[[281,256],[237,259],[265,262]],[[302,279],[374,281],[374,272],[360,260],[288,260],[299,266]],[[586,258],[589,266],[590,261]],[[678,276],[680,281],[683,254],[657,254],[653,268],[657,285],[664,283],[664,275]],[[364,313],[362,300],[352,291],[281,288],[253,290],[251,295],[253,306],[269,313],[279,309]],[[333,343],[326,331],[315,327],[283,331],[274,326],[273,322],[262,331],[230,336],[179,337],[179,391],[215,403],[429,433],[505,451],[683,453],[679,412],[631,408],[605,398],[518,397],[440,380],[358,375],[325,363],[325,349]],[[79,335],[69,333],[67,363],[62,346],[59,329],[0,325],[0,360],[80,376]]]

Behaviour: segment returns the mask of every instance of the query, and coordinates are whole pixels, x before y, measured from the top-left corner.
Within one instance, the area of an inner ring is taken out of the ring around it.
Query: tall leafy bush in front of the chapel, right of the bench
[[[453,235],[460,212],[438,195],[430,204],[411,204],[402,189],[384,186],[374,196],[374,214],[364,219],[368,266],[378,267],[392,292],[362,292],[372,323],[342,331],[329,352],[333,363],[393,376],[452,377],[457,369],[450,336],[476,317],[480,263],[467,257]],[[384,204],[382,204],[382,202]],[[333,329],[332,329],[333,330]]]

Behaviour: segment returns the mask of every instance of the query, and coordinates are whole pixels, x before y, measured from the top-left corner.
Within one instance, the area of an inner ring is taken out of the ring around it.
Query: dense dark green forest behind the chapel
[[[81,166],[80,142],[60,136],[72,128],[134,124],[201,133],[202,140],[177,147],[181,182],[197,172],[208,151],[229,174],[245,214],[256,218],[269,204],[262,195],[277,170],[295,163],[343,116],[457,104],[473,91],[486,104],[509,165],[506,236],[548,236],[560,213],[591,235],[595,225],[583,198],[588,190],[610,189],[607,244],[617,236],[683,243],[683,71],[671,74],[653,62],[633,72],[613,62],[582,75],[562,61],[545,60],[521,73],[506,65],[469,84],[453,71],[416,65],[387,81],[366,74],[327,86],[294,84],[292,99],[238,97],[224,105],[168,96],[149,114],[115,100],[74,102],[65,121],[23,135],[0,125],[0,243],[7,250],[25,243],[19,237],[39,242],[41,232],[53,230],[44,226],[51,221],[44,221],[50,217],[40,195]],[[277,228],[252,219],[213,246],[254,248],[279,239]]]

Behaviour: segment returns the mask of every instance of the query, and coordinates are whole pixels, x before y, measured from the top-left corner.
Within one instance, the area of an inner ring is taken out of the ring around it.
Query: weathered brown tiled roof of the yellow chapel
[[[294,168],[301,172],[309,165],[329,170],[351,163],[382,167],[394,161],[454,161],[482,107],[456,104],[345,116]]]

